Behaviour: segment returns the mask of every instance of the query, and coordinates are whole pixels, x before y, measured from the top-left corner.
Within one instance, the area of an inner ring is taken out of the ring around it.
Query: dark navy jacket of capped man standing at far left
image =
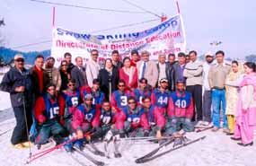
[[[12,67],[4,74],[4,78],[0,84],[0,90],[10,93],[12,107],[21,107],[23,104],[23,96],[25,104],[31,105],[31,84],[31,77],[27,69],[24,68],[21,73],[16,67]],[[25,92],[15,92],[15,88],[19,86],[24,86]]]

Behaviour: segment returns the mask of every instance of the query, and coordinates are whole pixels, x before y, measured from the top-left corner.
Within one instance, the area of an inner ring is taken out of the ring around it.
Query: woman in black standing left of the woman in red
[[[104,92],[105,99],[109,100],[110,91],[116,91],[118,89],[117,85],[119,83],[119,70],[113,66],[112,60],[110,58],[105,60],[105,67],[100,70],[98,78],[101,84],[101,91]]]

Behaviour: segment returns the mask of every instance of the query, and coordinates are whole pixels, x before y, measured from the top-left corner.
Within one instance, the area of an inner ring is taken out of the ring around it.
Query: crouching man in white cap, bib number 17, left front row
[[[92,94],[84,96],[84,103],[75,110],[72,127],[75,130],[78,140],[74,145],[79,149],[83,147],[84,134],[88,132],[98,132],[100,130],[101,110],[97,105],[93,105]],[[91,140],[90,137],[87,137]]]

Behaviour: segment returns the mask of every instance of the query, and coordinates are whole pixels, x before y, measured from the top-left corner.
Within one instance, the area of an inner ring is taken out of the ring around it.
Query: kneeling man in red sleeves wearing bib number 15
[[[64,128],[60,125],[63,123],[63,114],[65,109],[65,100],[62,96],[57,96],[56,86],[49,84],[47,86],[47,93],[36,100],[35,104],[35,118],[40,125],[40,132],[35,140],[40,149],[41,144],[46,144],[49,137],[57,141],[61,141],[61,136],[65,133]]]

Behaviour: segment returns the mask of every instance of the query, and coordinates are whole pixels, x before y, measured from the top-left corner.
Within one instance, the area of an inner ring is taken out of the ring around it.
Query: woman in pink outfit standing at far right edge
[[[243,65],[245,76],[240,83],[238,105],[235,114],[233,140],[242,140],[239,145],[253,144],[253,129],[256,125],[256,66],[252,62]]]

